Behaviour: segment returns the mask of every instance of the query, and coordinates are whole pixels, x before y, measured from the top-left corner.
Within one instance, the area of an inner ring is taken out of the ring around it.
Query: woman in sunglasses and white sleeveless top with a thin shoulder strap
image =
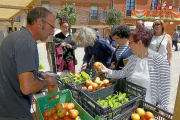
[[[170,66],[172,60],[171,36],[165,33],[165,25],[163,20],[154,21],[152,27],[154,33],[149,48],[164,56],[168,60]]]

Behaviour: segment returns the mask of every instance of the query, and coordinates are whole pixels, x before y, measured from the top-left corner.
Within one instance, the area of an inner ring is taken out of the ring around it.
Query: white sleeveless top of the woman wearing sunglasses
[[[164,39],[163,39],[163,37],[164,37],[164,34],[160,35],[160,36],[153,36],[149,48],[152,49],[153,51],[157,52],[157,48],[159,47],[159,45],[161,43],[158,53],[160,53],[167,59],[168,34],[165,34]],[[163,41],[162,41],[162,39],[163,39]]]

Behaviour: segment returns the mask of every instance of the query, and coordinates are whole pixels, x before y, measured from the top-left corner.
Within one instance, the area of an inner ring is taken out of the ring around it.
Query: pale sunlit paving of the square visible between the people
[[[180,46],[180,43],[179,43],[179,46]],[[47,61],[45,43],[39,43],[38,50],[39,50],[39,56],[42,59],[42,63],[44,65],[43,71],[49,71],[50,69],[49,69],[49,65]],[[78,65],[76,65],[76,72],[79,72],[82,65],[82,59],[84,56],[84,49],[77,48],[75,50],[75,54],[78,60]],[[171,63],[171,95],[170,95],[170,104],[168,106],[168,109],[170,112],[173,112],[173,109],[174,109],[177,85],[179,82],[179,73],[180,73],[180,51],[174,51],[174,48],[173,48],[173,58],[172,58],[172,63]]]

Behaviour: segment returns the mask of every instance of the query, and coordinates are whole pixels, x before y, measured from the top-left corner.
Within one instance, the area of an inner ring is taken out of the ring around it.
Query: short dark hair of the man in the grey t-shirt
[[[49,14],[53,16],[52,12],[46,8],[35,7],[27,15],[27,24],[33,25],[37,19],[39,18],[45,19]]]

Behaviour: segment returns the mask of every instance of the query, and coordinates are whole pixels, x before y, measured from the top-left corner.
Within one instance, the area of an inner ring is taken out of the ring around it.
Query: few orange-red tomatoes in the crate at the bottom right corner
[[[142,108],[137,108],[136,113],[133,113],[131,118],[133,120],[155,120],[151,112],[145,112]]]

